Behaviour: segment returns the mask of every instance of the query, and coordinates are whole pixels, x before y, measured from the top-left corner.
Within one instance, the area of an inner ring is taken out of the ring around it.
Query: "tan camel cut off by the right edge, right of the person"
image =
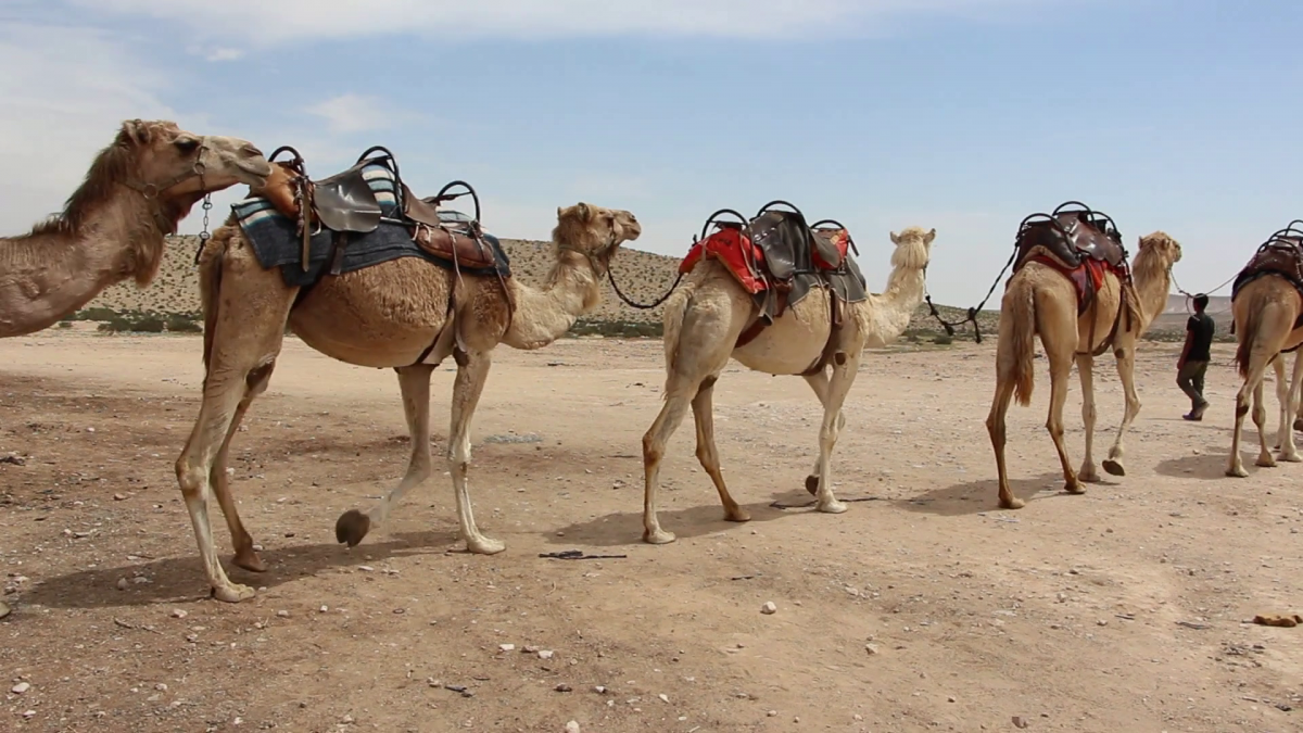
[[[1294,445],[1294,430],[1290,417],[1298,410],[1299,385],[1303,380],[1303,351],[1294,357],[1293,378],[1285,381],[1285,351],[1298,348],[1303,343],[1303,327],[1295,329],[1303,316],[1303,297],[1299,291],[1282,277],[1264,275],[1244,284],[1231,300],[1231,314],[1235,318],[1235,334],[1239,346],[1235,350],[1235,364],[1244,383],[1235,394],[1235,429],[1231,433],[1230,463],[1227,476],[1243,479],[1248,476],[1244,460],[1239,455],[1239,437],[1248,412],[1248,395],[1253,395],[1253,424],[1257,425],[1259,454],[1257,466],[1272,468],[1276,459],[1267,447],[1267,407],[1263,404],[1263,377],[1267,366],[1276,370],[1276,398],[1280,402],[1281,421],[1276,432],[1276,445],[1281,449],[1281,460],[1296,463],[1303,460]]]

